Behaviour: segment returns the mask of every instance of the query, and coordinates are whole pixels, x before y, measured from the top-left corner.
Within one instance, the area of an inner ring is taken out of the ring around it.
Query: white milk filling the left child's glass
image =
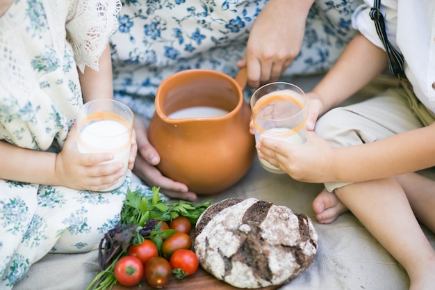
[[[81,153],[112,152],[115,158],[108,162],[122,161],[126,172],[129,164],[130,142],[130,131],[124,124],[114,120],[98,120],[83,127],[79,133],[77,147]],[[104,191],[112,191],[120,187],[124,183],[125,176]]]

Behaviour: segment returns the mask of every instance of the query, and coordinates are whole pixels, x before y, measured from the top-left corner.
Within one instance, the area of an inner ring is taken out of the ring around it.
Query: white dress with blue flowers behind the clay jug
[[[268,0],[124,0],[111,36],[115,98],[150,118],[163,79],[190,68],[238,72],[252,27]],[[329,70],[352,39],[362,0],[315,0],[299,56],[284,74]],[[251,91],[245,91],[249,98]]]

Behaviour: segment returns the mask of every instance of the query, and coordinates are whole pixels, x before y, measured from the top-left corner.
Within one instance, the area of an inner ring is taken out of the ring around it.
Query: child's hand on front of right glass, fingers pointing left
[[[259,158],[293,179],[313,183],[334,181],[334,148],[313,131],[306,132],[306,143],[302,145],[261,138],[256,148]]]

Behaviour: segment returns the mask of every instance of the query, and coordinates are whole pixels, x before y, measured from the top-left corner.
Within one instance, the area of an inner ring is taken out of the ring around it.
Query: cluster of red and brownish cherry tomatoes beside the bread
[[[116,280],[124,286],[133,286],[145,277],[150,287],[163,287],[169,282],[172,273],[182,279],[192,275],[199,266],[198,257],[191,250],[190,230],[192,225],[185,216],[177,216],[167,225],[161,222],[160,230],[174,229],[163,241],[161,249],[149,239],[140,245],[130,245],[128,255],[115,264]]]

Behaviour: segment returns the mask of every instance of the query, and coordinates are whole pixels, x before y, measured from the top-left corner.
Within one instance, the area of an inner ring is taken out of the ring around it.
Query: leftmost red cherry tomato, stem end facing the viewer
[[[144,267],[136,257],[122,257],[115,264],[115,278],[124,286],[136,285],[142,280]]]

